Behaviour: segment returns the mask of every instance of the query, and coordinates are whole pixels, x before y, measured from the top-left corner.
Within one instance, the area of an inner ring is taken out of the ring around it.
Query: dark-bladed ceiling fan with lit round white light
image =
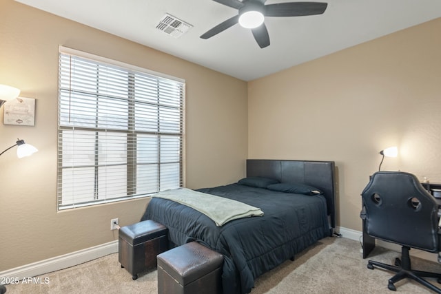
[[[289,2],[274,3],[265,5],[266,0],[213,0],[225,6],[236,8],[238,14],[222,23],[219,23],[205,34],[202,39],[209,39],[212,36],[227,30],[236,23],[244,28],[252,30],[260,48],[269,45],[269,34],[265,23],[265,17],[301,17],[306,15],[322,14],[328,4],[320,2]]]

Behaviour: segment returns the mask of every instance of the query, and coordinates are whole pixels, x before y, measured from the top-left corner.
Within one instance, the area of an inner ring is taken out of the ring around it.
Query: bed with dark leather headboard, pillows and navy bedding
[[[249,293],[256,277],[294,260],[297,253],[333,234],[334,169],[332,161],[247,160],[247,178],[197,191],[258,207],[263,216],[240,218],[218,227],[190,207],[152,198],[141,220],[165,225],[170,242],[176,246],[196,241],[223,254],[223,292]],[[273,191],[268,189],[269,179],[287,185],[281,185],[283,191]],[[293,183],[295,188],[303,184],[314,191],[286,193],[292,192],[286,188]]]

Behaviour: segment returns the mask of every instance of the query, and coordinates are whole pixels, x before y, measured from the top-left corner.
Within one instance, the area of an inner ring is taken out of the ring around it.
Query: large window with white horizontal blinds
[[[185,83],[60,47],[59,209],[183,186]]]

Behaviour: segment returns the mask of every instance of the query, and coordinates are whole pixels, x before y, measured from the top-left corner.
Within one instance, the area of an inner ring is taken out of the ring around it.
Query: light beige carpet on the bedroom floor
[[[376,247],[369,258],[393,263],[399,253]],[[387,280],[393,275],[382,269],[367,269],[359,242],[346,238],[325,238],[256,279],[251,294],[271,293],[393,293]],[[424,271],[441,272],[441,265],[412,258],[412,266]],[[48,284],[8,285],[7,294],[39,293],[157,293],[156,271],[142,273],[133,281],[132,275],[121,269],[118,255],[111,254],[69,269],[41,275]],[[405,282],[404,282],[405,281]],[[396,283],[396,293],[432,293],[416,282]],[[437,284],[435,280],[429,280]]]

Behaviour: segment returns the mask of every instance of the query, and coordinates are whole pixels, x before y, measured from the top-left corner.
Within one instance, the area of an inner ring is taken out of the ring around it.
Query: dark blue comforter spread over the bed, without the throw
[[[176,245],[197,241],[222,253],[224,293],[249,293],[254,279],[330,235],[322,196],[269,191],[238,184],[198,189],[262,209],[264,216],[216,227],[204,214],[171,200],[152,198],[141,220],[169,229]],[[216,205],[216,203],[213,203]]]

